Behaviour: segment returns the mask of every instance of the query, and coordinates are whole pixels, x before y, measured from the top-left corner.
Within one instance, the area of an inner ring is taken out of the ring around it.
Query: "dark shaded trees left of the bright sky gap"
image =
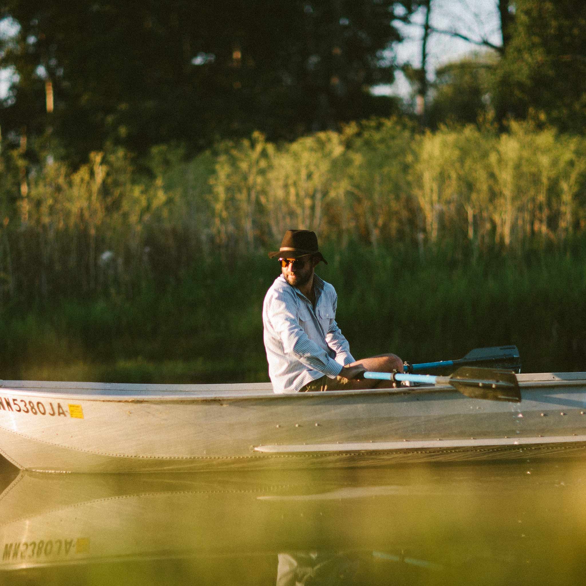
[[[50,129],[83,159],[105,141],[198,149],[252,130],[293,138],[389,115],[393,101],[368,88],[393,80],[383,50],[400,38],[395,11],[411,4],[8,0],[0,16],[21,29],[0,66],[14,66],[19,81],[2,131]]]

